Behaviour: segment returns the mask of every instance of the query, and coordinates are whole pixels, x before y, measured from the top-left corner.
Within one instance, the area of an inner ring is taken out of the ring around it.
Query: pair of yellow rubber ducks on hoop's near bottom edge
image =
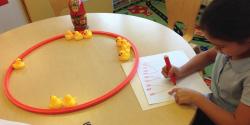
[[[57,96],[50,96],[50,103],[49,103],[49,108],[50,109],[60,109],[63,107],[72,107],[75,106],[76,103],[76,98],[71,96],[70,94],[67,94],[64,96],[63,99],[57,97]]]

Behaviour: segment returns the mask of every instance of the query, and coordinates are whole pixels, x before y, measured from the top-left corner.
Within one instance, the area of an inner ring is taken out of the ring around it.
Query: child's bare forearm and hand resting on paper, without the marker
[[[250,106],[243,103],[240,103],[236,111],[231,113],[217,106],[201,93],[191,89],[175,88],[169,94],[174,94],[178,104],[196,105],[216,125],[250,125]]]

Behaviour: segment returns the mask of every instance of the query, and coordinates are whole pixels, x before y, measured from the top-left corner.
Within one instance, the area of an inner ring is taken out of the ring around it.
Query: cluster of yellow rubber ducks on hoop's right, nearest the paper
[[[130,50],[131,44],[124,38],[117,37],[116,38],[116,45],[119,51],[119,60],[120,61],[128,61],[130,59]]]

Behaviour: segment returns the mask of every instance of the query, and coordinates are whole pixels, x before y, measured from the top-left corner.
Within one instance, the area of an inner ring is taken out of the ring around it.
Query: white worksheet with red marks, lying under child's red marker
[[[188,61],[188,57],[181,51],[161,53],[141,57],[138,75],[149,104],[161,103],[171,98],[168,91],[174,87],[161,74],[165,65],[164,56],[167,55],[173,66],[180,67]]]

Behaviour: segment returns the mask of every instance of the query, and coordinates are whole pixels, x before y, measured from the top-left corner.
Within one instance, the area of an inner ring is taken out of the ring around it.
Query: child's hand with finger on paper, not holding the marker
[[[180,105],[195,104],[199,97],[203,97],[201,93],[187,88],[174,88],[168,94],[174,95],[175,102]]]

